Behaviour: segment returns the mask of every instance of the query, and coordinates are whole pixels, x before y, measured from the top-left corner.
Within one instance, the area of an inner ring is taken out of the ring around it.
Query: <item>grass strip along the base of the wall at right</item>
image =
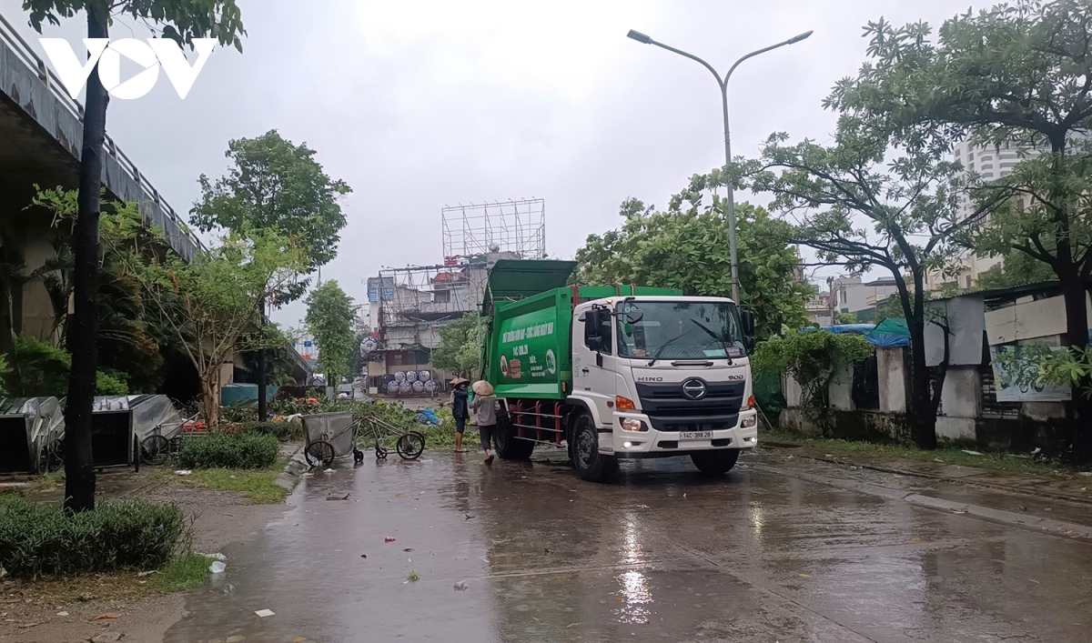
[[[787,431],[765,431],[760,437],[759,443],[761,444],[763,441],[822,449],[828,453],[859,453],[864,455],[899,457],[904,460],[915,460],[918,462],[938,462],[959,466],[973,466],[996,472],[1034,474],[1040,476],[1071,478],[1077,472],[1077,469],[1072,467],[1052,460],[1020,457],[1012,453],[1006,453],[1002,451],[986,452],[981,449],[973,448],[966,449],[970,451],[978,451],[984,455],[971,455],[970,453],[964,453],[964,448],[961,446],[941,446],[934,451],[925,451],[922,449],[915,449],[914,446],[904,446],[900,444],[880,444],[859,440],[835,440],[830,438],[809,438]]]

